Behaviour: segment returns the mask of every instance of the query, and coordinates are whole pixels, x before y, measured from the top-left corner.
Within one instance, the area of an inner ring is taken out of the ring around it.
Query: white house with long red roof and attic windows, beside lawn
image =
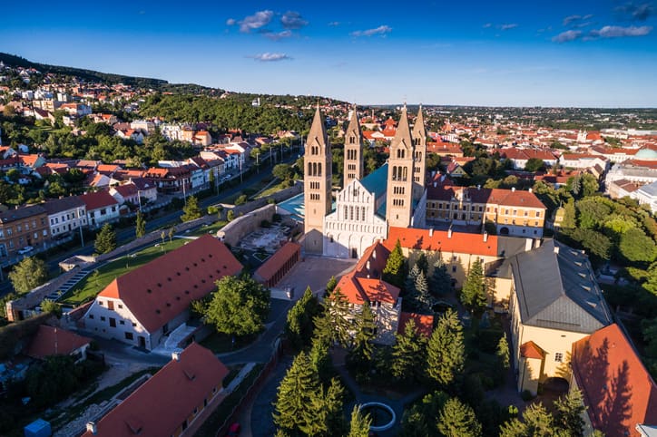
[[[204,235],[114,279],[96,296],[84,325],[97,335],[153,349],[187,321],[192,300],[241,268],[221,241]]]

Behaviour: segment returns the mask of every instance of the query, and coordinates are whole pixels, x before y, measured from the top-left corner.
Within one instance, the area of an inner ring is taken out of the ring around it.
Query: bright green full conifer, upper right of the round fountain
[[[442,387],[453,384],[463,373],[466,363],[466,346],[463,326],[456,312],[448,309],[438,318],[436,329],[427,345],[427,374]]]

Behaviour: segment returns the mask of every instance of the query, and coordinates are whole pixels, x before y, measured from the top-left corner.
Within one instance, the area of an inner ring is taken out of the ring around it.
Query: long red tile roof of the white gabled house
[[[153,332],[185,311],[192,300],[214,291],[215,281],[237,275],[241,268],[221,241],[204,235],[117,277],[98,296],[122,299]]]

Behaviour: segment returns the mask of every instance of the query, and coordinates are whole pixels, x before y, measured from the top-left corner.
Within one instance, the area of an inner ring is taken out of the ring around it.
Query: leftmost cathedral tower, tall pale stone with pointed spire
[[[331,212],[332,199],[331,150],[319,105],[306,139],[303,165],[305,248],[307,253],[321,254],[324,218]]]

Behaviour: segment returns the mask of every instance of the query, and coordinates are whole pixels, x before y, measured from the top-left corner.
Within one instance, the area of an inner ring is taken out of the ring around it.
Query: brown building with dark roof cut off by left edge
[[[0,212],[0,258],[20,255],[26,247],[47,248],[49,242],[48,216],[41,205]]]

